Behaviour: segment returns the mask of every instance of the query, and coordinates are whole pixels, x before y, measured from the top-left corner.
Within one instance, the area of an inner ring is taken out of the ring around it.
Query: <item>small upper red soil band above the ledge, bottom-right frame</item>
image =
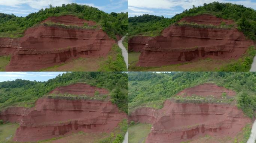
[[[213,83],[204,83],[202,85],[195,86],[193,88],[187,88],[182,90],[177,95],[181,96],[214,96],[216,98],[222,98],[222,93],[226,93],[226,96],[235,96],[236,93],[233,90],[217,86]]]

